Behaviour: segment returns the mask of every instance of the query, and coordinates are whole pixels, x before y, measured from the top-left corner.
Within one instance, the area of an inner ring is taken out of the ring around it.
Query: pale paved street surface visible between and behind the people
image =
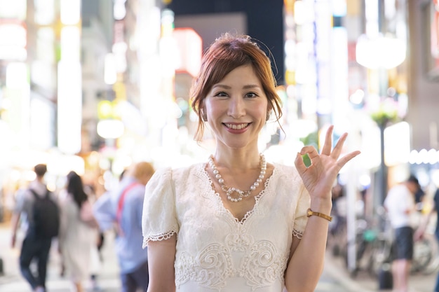
[[[120,291],[119,271],[114,255],[112,234],[106,237],[102,255],[104,262],[98,276],[101,291]],[[11,249],[11,233],[8,225],[0,224],[0,258],[4,260],[4,274],[0,275],[0,292],[31,292],[21,277],[18,269],[19,249]],[[435,283],[435,273],[428,275],[413,275],[410,278],[410,292],[431,292]],[[86,284],[91,291],[90,283]],[[373,292],[378,291],[377,279],[371,279],[365,274],[358,274],[351,279],[344,269],[340,258],[333,258],[329,253],[325,259],[325,270],[315,292]],[[68,279],[60,277],[60,256],[56,251],[56,243],[50,253],[48,269],[48,292],[70,292]],[[386,292],[386,291],[383,291]]]

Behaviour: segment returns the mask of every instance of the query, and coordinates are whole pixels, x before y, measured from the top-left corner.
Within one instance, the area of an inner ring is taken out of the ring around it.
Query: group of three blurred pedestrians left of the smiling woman
[[[50,250],[56,249],[60,276],[72,281],[72,291],[85,291],[86,282],[99,291],[100,251],[107,232],[114,232],[122,291],[146,291],[141,216],[144,188],[154,170],[149,162],[134,163],[99,193],[99,182],[73,170],[62,187],[53,189],[46,180],[47,166],[35,165],[34,179],[15,191],[9,221],[11,247],[20,250],[20,272],[29,288],[46,291]]]

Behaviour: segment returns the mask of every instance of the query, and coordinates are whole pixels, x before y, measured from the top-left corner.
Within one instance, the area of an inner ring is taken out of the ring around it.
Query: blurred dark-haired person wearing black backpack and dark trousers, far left
[[[36,179],[29,183],[28,190],[13,211],[11,246],[15,247],[19,223],[27,221],[28,227],[20,251],[20,271],[32,291],[45,292],[50,246],[52,239],[58,235],[60,218],[56,197],[44,183],[47,166],[38,164],[34,172]],[[36,260],[37,274],[30,269],[32,260]]]

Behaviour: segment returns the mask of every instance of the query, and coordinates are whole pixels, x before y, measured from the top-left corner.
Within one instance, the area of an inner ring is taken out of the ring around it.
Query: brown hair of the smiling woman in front
[[[213,85],[222,81],[231,71],[246,64],[251,64],[257,78],[262,83],[262,88],[269,102],[268,110],[273,109],[277,121],[281,118],[282,102],[276,92],[277,84],[269,57],[250,36],[222,34],[205,51],[200,73],[191,87],[191,106],[198,115],[198,128],[195,134],[197,141],[203,137],[203,115],[205,115],[203,108],[204,99],[208,92]]]

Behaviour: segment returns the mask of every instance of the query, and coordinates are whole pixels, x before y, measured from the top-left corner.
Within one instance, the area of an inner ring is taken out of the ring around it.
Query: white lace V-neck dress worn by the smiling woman
[[[255,207],[238,221],[204,167],[154,174],[145,191],[143,246],[177,234],[178,292],[282,292],[292,236],[302,237],[310,202],[297,170],[275,165]]]

